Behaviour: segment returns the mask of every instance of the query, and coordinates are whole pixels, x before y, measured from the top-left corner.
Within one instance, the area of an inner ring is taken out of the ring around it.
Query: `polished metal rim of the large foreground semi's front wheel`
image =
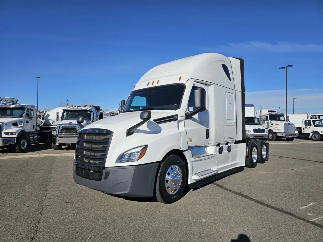
[[[175,194],[182,185],[182,171],[178,166],[168,168],[165,176],[165,187],[169,194]]]

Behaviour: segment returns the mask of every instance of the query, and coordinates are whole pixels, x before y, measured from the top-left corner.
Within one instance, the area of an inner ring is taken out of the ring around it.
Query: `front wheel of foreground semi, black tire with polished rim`
[[[171,184],[171,178],[175,184]],[[156,180],[156,199],[161,203],[171,204],[180,200],[187,183],[186,166],[181,157],[171,155],[161,164]],[[172,186],[178,187],[172,187]],[[173,189],[173,190],[171,190]]]

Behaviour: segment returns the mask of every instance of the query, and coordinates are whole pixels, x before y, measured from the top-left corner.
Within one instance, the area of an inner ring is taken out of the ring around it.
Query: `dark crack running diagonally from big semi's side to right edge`
[[[281,213],[283,213],[283,214],[287,214],[287,215],[289,215],[289,216],[291,216],[291,217],[297,218],[297,219],[302,220],[302,221],[304,221],[304,222],[306,222],[306,223],[308,223],[308,224],[311,224],[311,225],[314,225],[314,226],[316,226],[316,227],[319,227],[319,228],[322,228],[322,229],[323,229],[323,225],[318,224],[318,223],[315,223],[315,222],[313,222],[313,221],[311,221],[311,220],[308,220],[308,219],[306,219],[306,218],[300,217],[300,216],[298,216],[298,215],[296,215],[296,214],[293,214],[293,213],[291,213],[291,212],[285,211],[285,210],[284,210],[284,209],[282,209],[282,208],[274,207],[274,206],[272,206],[272,205],[269,205],[269,204],[267,204],[267,203],[264,203],[264,202],[262,202],[262,201],[259,201],[259,200],[255,199],[255,198],[249,197],[248,195],[245,195],[245,194],[243,194],[243,193],[233,191],[233,190],[231,190],[231,189],[229,189],[229,188],[227,188],[227,187],[224,187],[224,186],[222,186],[222,185],[220,185],[220,184],[218,184],[218,183],[212,183],[212,184],[213,184],[213,185],[215,185],[215,186],[217,186],[217,187],[219,187],[219,188],[221,188],[221,189],[223,189],[223,190],[225,190],[225,191],[231,192],[231,193],[233,193],[233,194],[235,194],[235,195],[238,195],[238,196],[240,196],[240,197],[246,198],[246,199],[248,199],[248,200],[250,200],[250,201],[253,201],[253,202],[258,203],[258,204],[260,204],[260,205],[263,205],[263,206],[265,206],[265,207],[271,208],[271,209],[276,210],[276,211],[278,211],[278,212],[281,212]]]

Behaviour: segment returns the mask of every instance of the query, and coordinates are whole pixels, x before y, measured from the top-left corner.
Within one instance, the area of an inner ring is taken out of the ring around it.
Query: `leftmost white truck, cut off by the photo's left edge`
[[[0,98],[0,148],[24,153],[30,144],[49,139],[52,129],[38,126],[36,106],[20,104],[12,97]]]

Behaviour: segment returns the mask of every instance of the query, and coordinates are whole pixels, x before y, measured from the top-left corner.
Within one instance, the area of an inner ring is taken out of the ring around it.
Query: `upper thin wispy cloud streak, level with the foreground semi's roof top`
[[[244,43],[229,43],[227,45],[203,46],[203,51],[231,52],[231,51],[267,51],[274,53],[323,53],[323,44],[298,44],[298,43],[267,43],[250,41]]]

